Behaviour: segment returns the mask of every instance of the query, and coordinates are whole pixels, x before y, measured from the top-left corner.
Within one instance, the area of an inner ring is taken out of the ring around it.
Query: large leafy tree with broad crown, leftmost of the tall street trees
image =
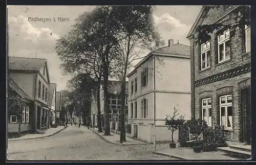
[[[68,36],[58,40],[56,46],[57,54],[65,62],[62,66],[69,73],[89,72],[91,74],[94,73],[93,75],[97,73],[98,82],[101,81],[103,74],[104,134],[110,135],[107,106],[108,80],[109,76],[111,76],[111,61],[116,57],[113,48],[117,42],[113,30],[116,25],[112,19],[112,7],[96,7],[92,12],[82,14],[77,21],[74,30]],[[100,108],[98,108],[98,114],[99,112]]]

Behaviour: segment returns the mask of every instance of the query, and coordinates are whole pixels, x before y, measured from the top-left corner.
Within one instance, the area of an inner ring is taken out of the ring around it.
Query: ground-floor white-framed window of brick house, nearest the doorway
[[[232,95],[220,97],[220,125],[232,129]]]

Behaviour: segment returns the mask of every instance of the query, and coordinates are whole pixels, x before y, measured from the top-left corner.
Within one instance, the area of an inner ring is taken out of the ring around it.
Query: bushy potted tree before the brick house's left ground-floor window
[[[193,151],[201,152],[202,151],[202,142],[199,141],[198,137],[203,133],[203,131],[208,127],[206,122],[200,119],[191,119],[186,123],[189,128],[189,133],[192,134],[196,142],[193,143]]]

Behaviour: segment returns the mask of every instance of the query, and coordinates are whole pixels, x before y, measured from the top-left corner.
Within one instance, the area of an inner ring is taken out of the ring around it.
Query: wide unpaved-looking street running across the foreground
[[[158,144],[161,145],[166,144]],[[69,126],[45,138],[8,142],[9,160],[174,160],[156,155],[153,145],[120,146],[101,139],[87,127]]]

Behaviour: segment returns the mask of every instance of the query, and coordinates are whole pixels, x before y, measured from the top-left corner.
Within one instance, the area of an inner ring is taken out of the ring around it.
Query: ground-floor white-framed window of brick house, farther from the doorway
[[[211,126],[211,98],[202,99],[202,120]]]

